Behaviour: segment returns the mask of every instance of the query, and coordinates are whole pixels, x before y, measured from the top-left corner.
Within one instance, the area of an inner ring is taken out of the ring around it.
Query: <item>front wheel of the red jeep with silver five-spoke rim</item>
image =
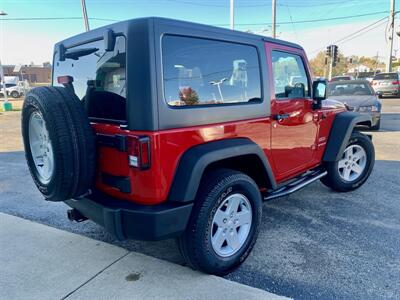
[[[338,161],[327,162],[328,174],[321,182],[338,192],[348,192],[362,186],[372,172],[375,150],[371,139],[360,132],[353,132]]]

